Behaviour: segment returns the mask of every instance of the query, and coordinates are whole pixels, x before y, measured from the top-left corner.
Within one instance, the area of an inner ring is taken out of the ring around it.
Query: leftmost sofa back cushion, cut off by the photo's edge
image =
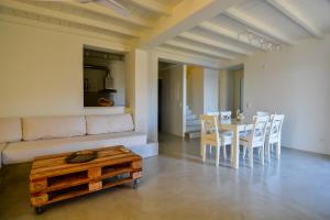
[[[0,143],[22,140],[21,119],[0,118]]]

